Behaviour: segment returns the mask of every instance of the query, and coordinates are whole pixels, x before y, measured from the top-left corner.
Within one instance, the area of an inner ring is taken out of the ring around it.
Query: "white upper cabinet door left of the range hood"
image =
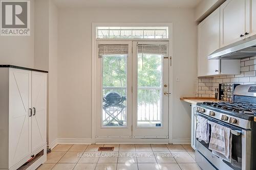
[[[218,75],[219,60],[208,60],[208,55],[220,47],[220,8],[198,26],[198,77]]]

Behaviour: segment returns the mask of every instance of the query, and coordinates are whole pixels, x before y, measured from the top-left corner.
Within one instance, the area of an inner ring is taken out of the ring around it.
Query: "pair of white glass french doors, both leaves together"
[[[95,137],[168,138],[168,42],[96,46]]]

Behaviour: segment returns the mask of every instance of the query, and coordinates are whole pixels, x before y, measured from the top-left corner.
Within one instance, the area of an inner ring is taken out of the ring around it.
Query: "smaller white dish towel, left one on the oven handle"
[[[201,116],[197,118],[197,138],[199,141],[209,142],[209,125],[207,119]]]

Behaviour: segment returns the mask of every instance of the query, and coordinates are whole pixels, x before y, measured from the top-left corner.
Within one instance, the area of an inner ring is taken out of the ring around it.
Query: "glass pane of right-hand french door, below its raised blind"
[[[137,125],[161,126],[162,55],[138,46]]]

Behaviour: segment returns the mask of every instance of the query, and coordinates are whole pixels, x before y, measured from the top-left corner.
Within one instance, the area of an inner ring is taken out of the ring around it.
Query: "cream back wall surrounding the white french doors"
[[[197,82],[197,25],[193,9],[58,9],[58,138],[91,138],[92,22],[173,22],[174,139],[190,138]],[[176,82],[179,78],[179,82]]]

